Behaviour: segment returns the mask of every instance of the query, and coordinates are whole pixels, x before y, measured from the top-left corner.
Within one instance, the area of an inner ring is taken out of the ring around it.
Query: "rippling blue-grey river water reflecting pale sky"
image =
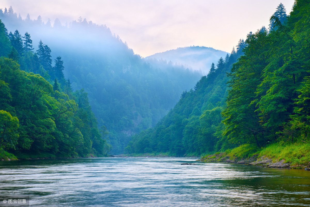
[[[309,171],[188,158],[9,161],[0,178],[2,197],[30,206],[310,206]]]

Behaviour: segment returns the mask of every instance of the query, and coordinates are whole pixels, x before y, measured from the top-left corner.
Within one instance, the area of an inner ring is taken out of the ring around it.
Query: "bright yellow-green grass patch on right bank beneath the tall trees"
[[[281,144],[275,143],[264,148],[259,157],[267,156],[272,159],[285,160],[286,163],[292,163],[294,165],[308,165],[310,161],[310,144]]]

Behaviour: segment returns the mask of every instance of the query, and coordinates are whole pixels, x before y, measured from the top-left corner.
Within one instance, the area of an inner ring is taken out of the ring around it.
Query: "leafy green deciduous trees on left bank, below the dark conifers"
[[[110,146],[99,133],[87,94],[78,107],[43,77],[21,71],[7,58],[0,58],[0,85],[0,106],[9,111],[0,111],[1,147],[23,156],[107,155]]]

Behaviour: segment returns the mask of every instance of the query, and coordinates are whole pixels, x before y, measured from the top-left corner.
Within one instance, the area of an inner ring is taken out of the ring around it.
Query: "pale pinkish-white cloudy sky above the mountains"
[[[41,15],[65,25],[80,16],[105,24],[136,54],[146,57],[185,46],[231,52],[238,40],[262,26],[282,2],[287,14],[294,0],[0,0],[23,19]]]

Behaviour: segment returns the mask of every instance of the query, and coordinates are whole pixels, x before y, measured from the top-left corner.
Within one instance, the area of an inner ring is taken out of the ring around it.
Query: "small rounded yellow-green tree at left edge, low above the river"
[[[19,134],[17,117],[0,110],[0,148],[15,149]]]

